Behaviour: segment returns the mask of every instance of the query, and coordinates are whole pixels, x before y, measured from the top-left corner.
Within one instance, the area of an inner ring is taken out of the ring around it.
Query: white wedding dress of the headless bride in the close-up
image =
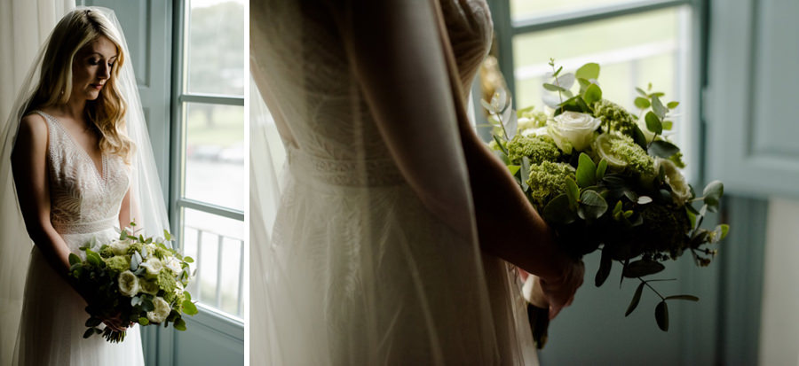
[[[288,166],[272,238],[251,237],[250,364],[537,364],[510,266],[432,214],[399,171],[352,74],[346,16],[324,1],[266,3],[250,10],[250,55]],[[490,13],[439,5],[469,90]]]

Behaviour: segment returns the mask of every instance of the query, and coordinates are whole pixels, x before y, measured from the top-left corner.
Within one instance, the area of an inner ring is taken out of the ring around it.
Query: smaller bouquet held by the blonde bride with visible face
[[[121,230],[119,239],[102,244],[99,252],[91,250],[99,245],[96,239],[83,245],[85,261],[69,254],[70,276],[92,299],[83,338],[102,334],[109,342],[121,342],[124,331],[99,328],[102,318],[115,316],[124,324],[172,323],[178,331],[186,331],[182,314],[197,314],[186,291],[188,263],[194,260],[172,249],[170,233],[163,233],[164,238],[145,238],[132,229]]]

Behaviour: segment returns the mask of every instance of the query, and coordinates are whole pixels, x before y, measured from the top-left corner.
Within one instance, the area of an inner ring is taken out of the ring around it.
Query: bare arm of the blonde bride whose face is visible
[[[22,218],[28,236],[53,269],[67,279],[69,248],[50,221],[50,188],[47,175],[47,122],[38,114],[22,118],[12,152],[12,169]]]

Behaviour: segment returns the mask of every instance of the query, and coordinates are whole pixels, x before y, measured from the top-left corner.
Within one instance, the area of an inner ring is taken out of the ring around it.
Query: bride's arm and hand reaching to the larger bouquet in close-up
[[[481,248],[541,276],[557,313],[581,284],[581,264],[558,250],[507,168],[458,113],[463,100],[450,84],[452,60],[445,58],[435,8],[402,0],[354,3],[338,21],[351,32],[344,39],[354,72],[408,183],[425,206],[455,225],[471,214],[459,194],[471,195]]]

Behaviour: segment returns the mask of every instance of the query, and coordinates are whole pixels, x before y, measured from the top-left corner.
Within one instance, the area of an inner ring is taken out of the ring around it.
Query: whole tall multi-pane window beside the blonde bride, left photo
[[[244,0],[186,0],[174,70],[171,222],[203,309],[239,319],[244,291]],[[211,310],[213,309],[213,310]]]

